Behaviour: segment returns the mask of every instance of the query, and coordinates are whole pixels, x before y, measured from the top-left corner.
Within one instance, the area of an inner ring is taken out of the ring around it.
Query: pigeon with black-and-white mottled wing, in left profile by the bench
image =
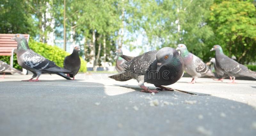
[[[17,60],[18,64],[33,73],[33,76],[29,80],[22,80],[28,82],[37,82],[42,73],[57,74],[66,79],[70,78],[64,73],[70,73],[70,70],[60,68],[55,65],[51,60],[44,58],[37,54],[33,50],[29,49],[28,42],[22,34],[15,34],[11,40],[15,40],[18,43],[17,46]],[[36,77],[36,80],[33,78]]]

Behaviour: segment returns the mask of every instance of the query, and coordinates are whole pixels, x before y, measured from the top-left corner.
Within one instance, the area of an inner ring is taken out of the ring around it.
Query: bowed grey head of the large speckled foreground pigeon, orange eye
[[[172,65],[176,58],[180,56],[179,52],[171,47],[164,47],[156,53],[157,71],[163,66]]]

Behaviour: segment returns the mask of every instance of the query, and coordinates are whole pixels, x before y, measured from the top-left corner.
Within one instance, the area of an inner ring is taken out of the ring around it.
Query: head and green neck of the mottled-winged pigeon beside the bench
[[[15,34],[15,36],[13,36],[11,40],[15,40],[18,43],[18,46],[17,46],[18,50],[29,49],[28,41],[26,40],[25,36],[23,36],[22,34]]]

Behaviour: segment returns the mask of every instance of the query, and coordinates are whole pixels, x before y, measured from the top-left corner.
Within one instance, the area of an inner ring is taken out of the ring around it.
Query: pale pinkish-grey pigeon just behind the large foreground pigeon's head
[[[214,77],[212,71],[199,57],[188,52],[185,44],[178,44],[176,50],[180,51],[181,57],[185,65],[184,70],[193,77],[190,83],[194,84],[196,82],[196,79],[201,76]]]

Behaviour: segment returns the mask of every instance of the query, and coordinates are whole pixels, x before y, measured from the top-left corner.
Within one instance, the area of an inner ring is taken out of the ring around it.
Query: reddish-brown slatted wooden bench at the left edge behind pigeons
[[[0,34],[0,56],[11,56],[10,65],[13,67],[13,54],[17,51],[17,42],[11,40],[15,34]],[[27,41],[29,40],[29,34],[23,34]],[[23,74],[27,74],[27,70],[22,70]]]

